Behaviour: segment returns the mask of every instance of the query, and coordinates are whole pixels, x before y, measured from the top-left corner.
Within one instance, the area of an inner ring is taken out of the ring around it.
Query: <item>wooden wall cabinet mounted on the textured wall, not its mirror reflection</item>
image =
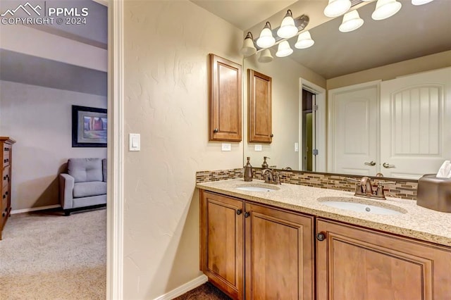
[[[210,54],[210,141],[241,142],[241,65]]]

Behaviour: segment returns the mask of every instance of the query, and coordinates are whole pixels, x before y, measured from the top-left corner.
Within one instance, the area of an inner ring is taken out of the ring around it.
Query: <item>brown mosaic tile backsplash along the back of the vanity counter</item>
[[[255,179],[264,180],[261,174],[261,168],[252,168],[252,173]],[[196,182],[210,182],[218,180],[230,180],[242,178],[244,175],[243,168],[230,170],[207,170],[196,173]],[[360,179],[362,176],[356,175],[337,175],[331,173],[312,173],[304,171],[280,171],[280,182],[289,183],[291,185],[307,185],[308,187],[319,187],[321,189],[338,189],[341,191],[354,192],[355,182],[350,182],[347,178]],[[374,179],[374,177],[373,177]],[[381,179],[395,184],[386,185],[384,187],[385,196],[416,200],[416,188],[418,182],[416,180],[401,180],[401,179]]]

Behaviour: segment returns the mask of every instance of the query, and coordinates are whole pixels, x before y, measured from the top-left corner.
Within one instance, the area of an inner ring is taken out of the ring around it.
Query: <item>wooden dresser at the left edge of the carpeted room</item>
[[[13,152],[13,144],[16,141],[9,137],[0,137],[0,163],[1,163],[1,213],[0,213],[0,239],[1,232],[5,227],[11,213],[11,157]]]

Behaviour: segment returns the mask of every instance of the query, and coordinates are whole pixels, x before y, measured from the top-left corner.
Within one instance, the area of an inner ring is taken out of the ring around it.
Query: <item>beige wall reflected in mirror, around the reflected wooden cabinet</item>
[[[268,156],[268,165],[277,168],[291,167],[299,169],[299,153],[302,153],[302,141],[299,141],[299,77],[326,88],[326,79],[309,68],[300,65],[290,58],[278,58],[275,55],[271,63],[259,63],[259,54],[245,58],[243,70],[243,97],[245,99],[245,157],[250,156],[251,164],[261,167],[263,157]],[[247,70],[256,70],[272,79],[272,126],[273,142],[271,144],[247,142]],[[299,152],[295,152],[295,142],[299,143]],[[255,151],[254,145],[261,144],[263,151]],[[243,162],[244,163],[244,162]]]

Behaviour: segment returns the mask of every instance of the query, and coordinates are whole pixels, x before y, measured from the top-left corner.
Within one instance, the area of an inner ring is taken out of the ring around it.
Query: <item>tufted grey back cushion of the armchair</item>
[[[75,182],[102,181],[101,158],[70,158],[68,173]]]

